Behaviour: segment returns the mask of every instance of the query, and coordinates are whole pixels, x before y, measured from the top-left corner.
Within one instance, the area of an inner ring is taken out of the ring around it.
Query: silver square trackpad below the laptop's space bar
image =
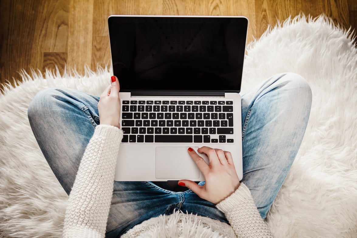
[[[188,147],[156,147],[156,178],[199,178],[200,170],[187,152]],[[198,147],[192,147],[197,153]]]

